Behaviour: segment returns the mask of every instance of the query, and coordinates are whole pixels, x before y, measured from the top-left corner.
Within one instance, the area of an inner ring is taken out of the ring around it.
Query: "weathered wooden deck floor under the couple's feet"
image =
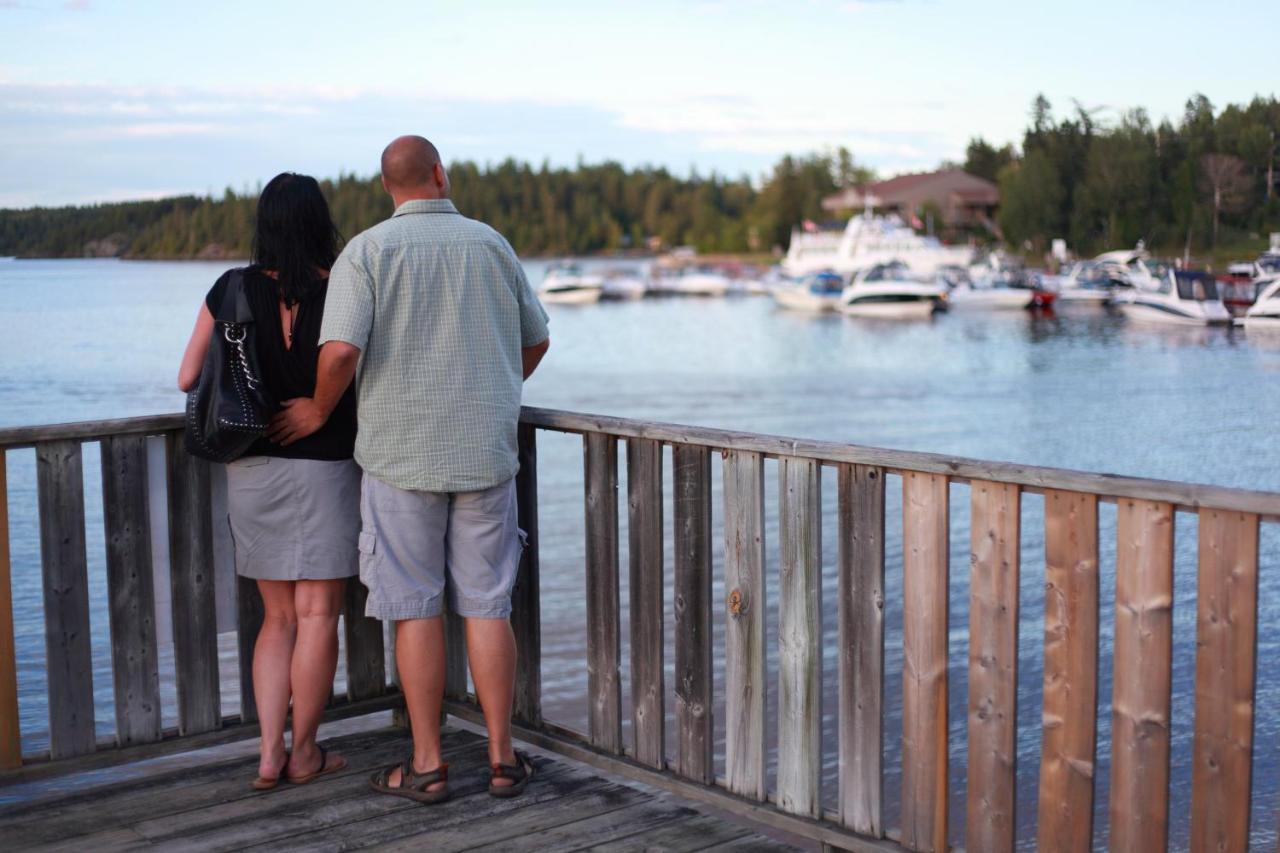
[[[522,797],[485,793],[484,740],[445,734],[453,799],[436,806],[369,790],[402,758],[401,729],[334,738],[347,770],[257,793],[255,758],[234,758],[0,808],[0,850],[791,850],[751,829],[568,762],[538,760]]]

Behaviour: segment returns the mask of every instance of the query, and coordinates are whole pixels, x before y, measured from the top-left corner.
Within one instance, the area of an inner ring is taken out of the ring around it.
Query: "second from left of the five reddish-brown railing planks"
[[[1012,850],[1018,771],[1016,485],[970,484],[969,768],[965,849]]]

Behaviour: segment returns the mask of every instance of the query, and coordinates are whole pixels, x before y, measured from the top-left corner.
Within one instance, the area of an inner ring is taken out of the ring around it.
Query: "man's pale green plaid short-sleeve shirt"
[[[453,202],[406,201],[329,277],[320,343],[361,348],[356,461],[402,489],[475,492],[516,475],[521,348],[548,337],[520,260]]]

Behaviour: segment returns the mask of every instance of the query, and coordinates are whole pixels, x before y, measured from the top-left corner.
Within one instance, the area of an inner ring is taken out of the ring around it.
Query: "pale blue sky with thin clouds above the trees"
[[[1280,92],[1271,3],[0,0],[0,207],[617,160],[763,175],[846,146],[879,174],[1016,142],[1032,99],[1115,120]]]

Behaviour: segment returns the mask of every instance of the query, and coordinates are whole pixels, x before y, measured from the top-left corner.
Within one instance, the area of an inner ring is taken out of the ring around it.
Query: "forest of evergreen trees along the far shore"
[[[1103,123],[1079,105],[1055,118],[1038,97],[1020,147],[978,137],[959,165],[1000,184],[1000,225],[1015,247],[1043,251],[1065,237],[1082,254],[1138,240],[1202,251],[1280,231],[1277,137],[1275,97],[1215,111],[1198,95],[1176,124],[1158,126],[1142,110]],[[637,248],[653,238],[703,252],[768,252],[785,248],[803,219],[823,219],[823,196],[873,177],[844,149],[782,158],[759,181],[515,160],[453,163],[449,174],[458,209],[525,255]],[[324,187],[346,236],[392,213],[376,177],[342,175]],[[253,195],[228,190],[221,197],[0,210],[0,256],[244,257],[253,205]]]

